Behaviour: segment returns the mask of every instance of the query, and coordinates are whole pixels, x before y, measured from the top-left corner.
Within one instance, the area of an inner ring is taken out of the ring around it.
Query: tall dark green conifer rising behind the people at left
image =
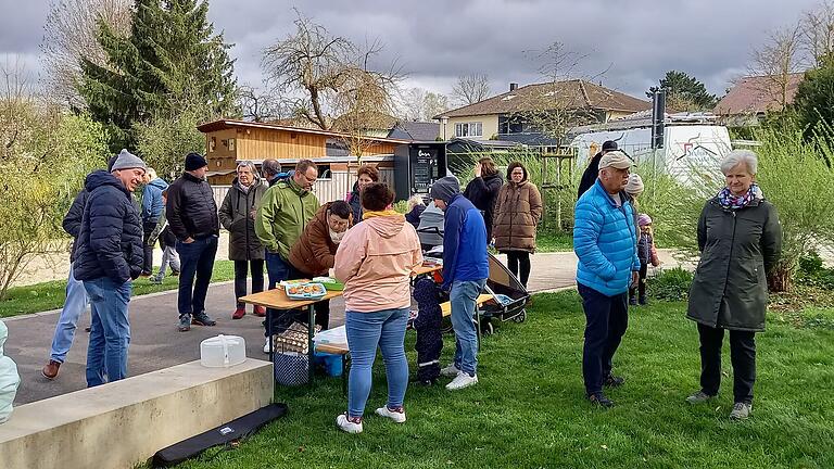
[[[137,0],[127,37],[99,22],[108,65],[83,60],[78,87],[112,150],[135,148],[134,127],[159,116],[235,113],[231,45],[214,34],[207,11],[207,1]]]

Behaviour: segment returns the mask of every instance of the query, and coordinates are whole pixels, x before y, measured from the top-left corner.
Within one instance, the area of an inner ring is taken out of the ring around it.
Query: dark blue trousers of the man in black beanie
[[[202,238],[190,243],[177,241],[179,253],[179,316],[205,313],[205,294],[212,281],[217,237]],[[197,278],[197,280],[194,280]]]

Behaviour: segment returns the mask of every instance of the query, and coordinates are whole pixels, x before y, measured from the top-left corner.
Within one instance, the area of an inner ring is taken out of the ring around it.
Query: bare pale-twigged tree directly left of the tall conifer
[[[106,56],[97,40],[101,20],[113,30],[130,30],[131,0],[53,0],[43,25],[40,45],[46,71],[43,85],[49,98],[58,103],[84,107],[77,89],[80,61],[106,66]]]

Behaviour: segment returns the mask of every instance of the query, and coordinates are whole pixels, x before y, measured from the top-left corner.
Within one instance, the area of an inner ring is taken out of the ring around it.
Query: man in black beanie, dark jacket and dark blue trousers
[[[186,172],[168,187],[165,217],[177,237],[179,253],[179,330],[191,325],[214,326],[205,314],[205,295],[212,280],[220,221],[212,187],[205,181],[208,162],[199,153],[186,156]],[[194,281],[197,277],[197,281]],[[193,289],[193,290],[192,290]]]

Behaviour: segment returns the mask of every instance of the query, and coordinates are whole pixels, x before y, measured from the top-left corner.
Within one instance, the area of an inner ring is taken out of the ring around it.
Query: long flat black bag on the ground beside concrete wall
[[[192,458],[213,446],[249,436],[270,421],[287,415],[287,404],[269,404],[207,432],[170,445],[153,455],[155,468],[170,467]]]

